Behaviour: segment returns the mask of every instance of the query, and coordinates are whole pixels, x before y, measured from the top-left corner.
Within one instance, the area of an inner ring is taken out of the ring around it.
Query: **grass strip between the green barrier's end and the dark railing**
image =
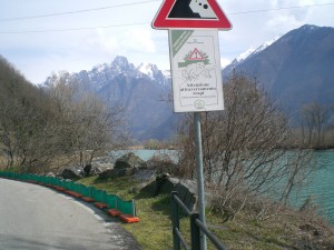
[[[137,239],[143,249],[171,249],[171,223],[169,219],[169,196],[151,197],[148,193],[134,192],[131,189],[139,181],[129,178],[117,178],[99,181],[96,177],[85,178],[78,182],[106,190],[122,199],[135,199],[139,223],[122,224]]]

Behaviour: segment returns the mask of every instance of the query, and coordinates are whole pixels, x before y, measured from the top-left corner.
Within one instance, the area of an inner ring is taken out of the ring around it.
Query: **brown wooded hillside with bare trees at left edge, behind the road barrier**
[[[24,172],[46,172],[69,162],[85,166],[107,149],[126,143],[120,107],[55,76],[38,88],[0,58],[0,163]]]

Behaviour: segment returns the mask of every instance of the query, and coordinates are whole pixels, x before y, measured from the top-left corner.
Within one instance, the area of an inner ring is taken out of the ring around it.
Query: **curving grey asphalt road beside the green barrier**
[[[51,189],[0,179],[0,250],[140,249],[119,223]]]

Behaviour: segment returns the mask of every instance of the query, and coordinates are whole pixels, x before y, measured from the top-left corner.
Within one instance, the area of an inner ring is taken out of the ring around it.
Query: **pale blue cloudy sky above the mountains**
[[[169,69],[168,32],[150,27],[161,2],[0,0],[0,54],[33,83],[51,72],[110,63],[116,56]],[[233,24],[219,31],[222,66],[303,24],[334,27],[334,0],[217,2]]]

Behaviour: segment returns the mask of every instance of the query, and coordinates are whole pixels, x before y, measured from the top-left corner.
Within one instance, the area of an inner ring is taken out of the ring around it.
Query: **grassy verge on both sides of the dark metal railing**
[[[85,178],[78,182],[106,190],[125,200],[135,199],[139,223],[122,224],[145,250],[173,249],[170,222],[170,196],[153,197],[140,192],[139,181],[130,178],[117,178],[99,181],[96,177]],[[206,212],[209,230],[229,250],[283,250],[299,249],[302,242],[315,249],[334,249],[334,230],[322,220],[299,212],[284,213],[264,221],[255,221],[247,211],[240,212],[233,221],[223,222],[222,214]],[[303,224],[312,224],[317,232],[301,229]],[[189,242],[189,219],[180,219],[180,231]],[[208,241],[208,249],[215,249]]]

